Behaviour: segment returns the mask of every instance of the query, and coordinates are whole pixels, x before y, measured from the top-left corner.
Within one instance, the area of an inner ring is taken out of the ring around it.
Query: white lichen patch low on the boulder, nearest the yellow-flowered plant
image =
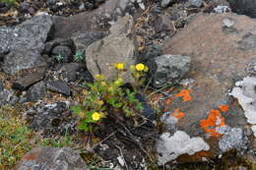
[[[177,131],[173,136],[170,136],[169,133],[164,133],[160,136],[160,140],[157,143],[158,163],[163,165],[182,154],[193,155],[198,151],[209,149],[209,144],[200,137],[190,138],[183,131]]]

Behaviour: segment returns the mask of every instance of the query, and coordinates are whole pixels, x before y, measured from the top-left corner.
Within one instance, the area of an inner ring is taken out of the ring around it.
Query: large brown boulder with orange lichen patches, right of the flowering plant
[[[236,31],[224,30],[225,19],[233,21],[231,28]],[[255,27],[256,21],[246,16],[199,14],[186,28],[162,43],[163,54],[191,57],[191,69],[185,78],[194,80],[189,85],[179,86],[171,93],[170,104],[165,103],[164,110],[175,119],[170,132],[184,131],[191,138],[207,140],[210,146],[205,153],[181,155],[179,162],[202,161],[202,157],[208,159],[231,148],[238,149],[243,156],[255,152],[255,148],[250,147],[255,142],[244,133],[248,129],[246,110],[240,106],[239,99],[228,95],[234,83],[247,76],[246,66],[256,56]],[[227,126],[230,134],[223,133],[228,132],[224,130]],[[242,141],[247,138],[248,142],[243,145],[241,138]]]

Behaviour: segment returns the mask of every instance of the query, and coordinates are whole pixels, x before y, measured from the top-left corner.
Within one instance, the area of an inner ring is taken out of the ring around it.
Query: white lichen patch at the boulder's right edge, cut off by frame
[[[229,95],[237,98],[247,122],[256,125],[256,78],[246,77],[236,82]],[[255,136],[256,134],[254,134]],[[256,136],[255,136],[256,137]]]

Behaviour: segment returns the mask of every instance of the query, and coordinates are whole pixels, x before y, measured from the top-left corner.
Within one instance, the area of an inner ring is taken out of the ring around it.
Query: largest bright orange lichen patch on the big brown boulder
[[[216,132],[217,127],[224,126],[224,117],[219,110],[211,110],[207,119],[200,121],[201,128],[211,137],[220,137],[221,134]]]

